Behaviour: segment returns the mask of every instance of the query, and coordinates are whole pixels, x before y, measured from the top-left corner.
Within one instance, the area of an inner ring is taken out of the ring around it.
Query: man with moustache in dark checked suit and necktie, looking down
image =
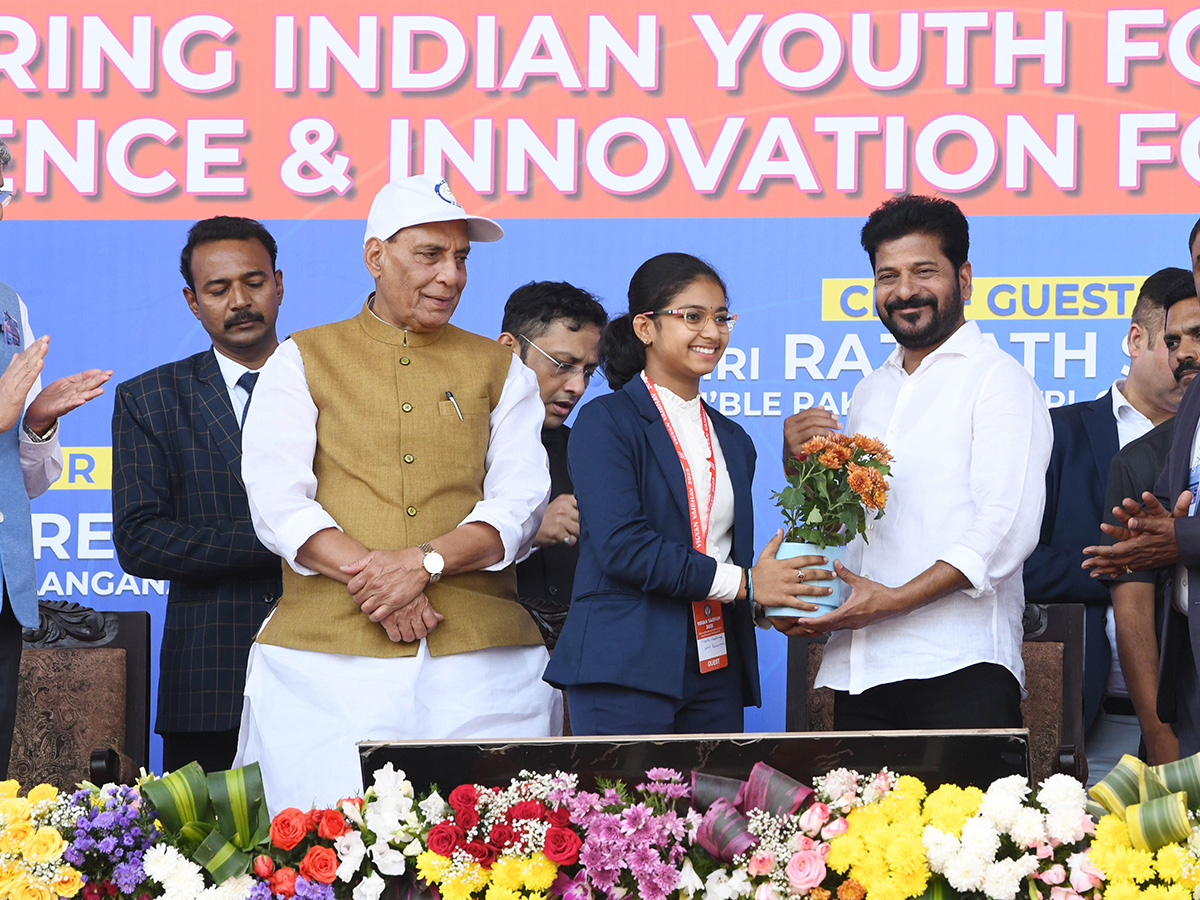
[[[193,226],[184,296],[212,347],[116,389],[116,556],[131,575],[170,580],[156,721],[164,770],[233,763],[250,644],[280,595],[280,559],[254,535],[241,480],[258,370],[280,343],[275,257],[275,239],[253,220]]]

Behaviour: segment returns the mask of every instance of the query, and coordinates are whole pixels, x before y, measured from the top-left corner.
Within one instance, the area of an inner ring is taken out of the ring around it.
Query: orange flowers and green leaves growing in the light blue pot
[[[817,547],[844,546],[866,533],[887,505],[892,454],[863,434],[821,434],[787,461],[787,486],[773,491],[782,510],[785,540]]]

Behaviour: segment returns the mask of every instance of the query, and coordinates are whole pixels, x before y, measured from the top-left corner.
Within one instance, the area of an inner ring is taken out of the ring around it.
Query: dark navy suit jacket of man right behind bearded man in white
[[[1050,410],[1054,448],[1046,469],[1046,508],[1038,546],[1025,560],[1025,599],[1033,604],[1086,604],[1084,722],[1091,726],[1104,698],[1112,650],[1104,634],[1108,586],[1081,568],[1084,547],[1104,534],[1104,490],[1118,449],[1112,392]]]

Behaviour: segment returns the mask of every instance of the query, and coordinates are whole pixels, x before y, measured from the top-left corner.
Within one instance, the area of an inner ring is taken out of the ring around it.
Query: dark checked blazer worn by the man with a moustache
[[[236,728],[281,563],[254,536],[241,430],[214,350],[116,388],[113,541],[125,571],[170,580],[156,730]]]

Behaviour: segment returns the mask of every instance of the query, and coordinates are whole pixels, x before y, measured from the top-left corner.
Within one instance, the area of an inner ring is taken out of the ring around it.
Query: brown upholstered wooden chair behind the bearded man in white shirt
[[[1037,784],[1062,772],[1084,778],[1084,607],[1080,604],[1026,604],[1025,684],[1021,703],[1030,731],[1030,774]],[[787,731],[833,731],[834,694],[814,689],[824,637],[787,642]],[[791,686],[804,685],[804,690]]]

